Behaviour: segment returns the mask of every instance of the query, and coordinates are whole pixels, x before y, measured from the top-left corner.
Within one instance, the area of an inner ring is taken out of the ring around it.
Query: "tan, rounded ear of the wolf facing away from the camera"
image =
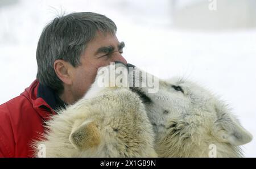
[[[100,144],[100,133],[94,122],[84,122],[71,132],[69,141],[76,149],[86,150]]]

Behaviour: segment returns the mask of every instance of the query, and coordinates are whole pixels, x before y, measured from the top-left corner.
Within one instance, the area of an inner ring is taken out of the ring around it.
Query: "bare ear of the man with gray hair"
[[[72,84],[71,71],[73,66],[64,60],[56,60],[53,63],[53,68],[59,79],[65,84]]]

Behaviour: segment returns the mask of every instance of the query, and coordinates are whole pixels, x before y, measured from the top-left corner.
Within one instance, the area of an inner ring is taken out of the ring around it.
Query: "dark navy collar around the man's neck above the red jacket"
[[[46,103],[53,109],[63,109],[65,108],[65,102],[59,98],[59,96],[55,93],[55,91],[48,86],[44,86],[43,84],[39,83],[38,86],[38,94],[37,98],[42,98]]]

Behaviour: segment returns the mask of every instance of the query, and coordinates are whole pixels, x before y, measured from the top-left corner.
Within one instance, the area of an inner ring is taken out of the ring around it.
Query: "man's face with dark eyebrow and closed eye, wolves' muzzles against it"
[[[127,64],[122,56],[123,43],[115,35],[97,32],[96,37],[90,41],[81,55],[81,65],[72,72],[72,93],[75,100],[79,100],[88,91],[94,82],[99,67],[109,65],[110,62],[121,61]]]

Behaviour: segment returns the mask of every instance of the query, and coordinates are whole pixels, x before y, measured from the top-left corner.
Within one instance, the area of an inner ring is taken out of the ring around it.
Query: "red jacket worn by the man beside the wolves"
[[[39,82],[0,105],[0,157],[32,157],[30,143],[40,140],[43,123],[55,114],[42,98],[37,98]]]

